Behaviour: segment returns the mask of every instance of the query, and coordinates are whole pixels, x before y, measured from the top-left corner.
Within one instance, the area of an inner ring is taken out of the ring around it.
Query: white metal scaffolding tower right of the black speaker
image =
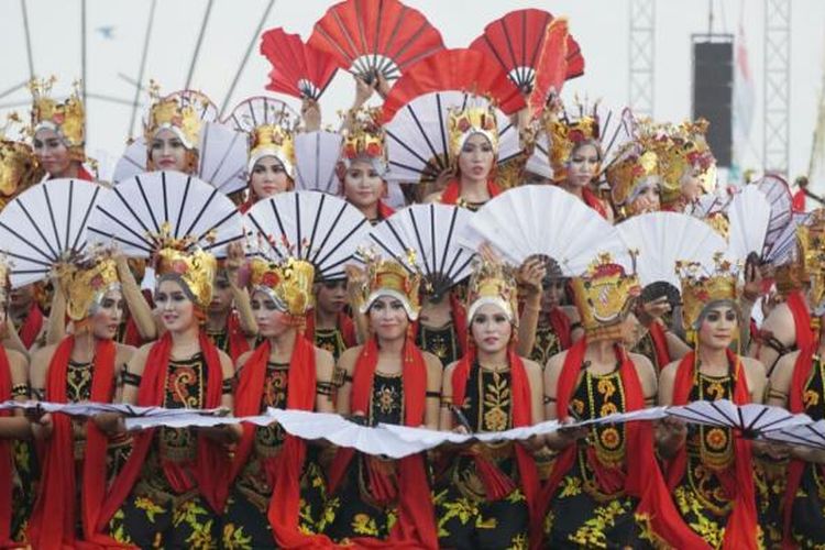
[[[791,0],[765,0],[766,173],[788,176],[791,121]]]

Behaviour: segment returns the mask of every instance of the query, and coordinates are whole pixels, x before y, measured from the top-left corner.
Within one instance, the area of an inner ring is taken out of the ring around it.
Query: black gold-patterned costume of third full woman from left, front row
[[[286,408],[289,363],[267,363],[261,413],[267,407]],[[272,499],[262,458],[273,458],[280,452],[285,432],[280,425],[271,424],[255,428],[255,441],[246,465],[241,470],[230,490],[223,512],[223,548],[253,549],[274,546],[272,528],[266,517]],[[311,448],[301,476],[299,522],[301,529],[314,531],[323,505],[324,481]]]

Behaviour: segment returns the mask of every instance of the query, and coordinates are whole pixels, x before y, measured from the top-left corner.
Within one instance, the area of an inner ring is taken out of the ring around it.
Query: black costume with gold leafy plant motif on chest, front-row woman
[[[466,396],[461,407],[474,432],[503,431],[513,427],[510,371],[493,372],[479,364],[470,369]],[[513,442],[488,444],[485,457],[507,475],[516,488],[498,501],[487,499],[472,455],[452,459],[436,484],[439,541],[446,548],[527,548],[529,513],[518,488],[518,466]],[[480,448],[481,450],[481,448]]]

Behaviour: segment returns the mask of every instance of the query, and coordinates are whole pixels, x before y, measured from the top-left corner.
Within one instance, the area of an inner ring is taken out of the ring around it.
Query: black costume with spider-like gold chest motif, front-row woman
[[[375,371],[370,394],[367,422],[370,425],[404,424],[402,373],[387,375]],[[332,540],[342,541],[353,537],[383,539],[389,535],[389,530],[395,525],[397,502],[380,503],[373,498],[370,468],[384,472],[397,491],[395,460],[356,453],[336,494],[327,499],[319,530]]]

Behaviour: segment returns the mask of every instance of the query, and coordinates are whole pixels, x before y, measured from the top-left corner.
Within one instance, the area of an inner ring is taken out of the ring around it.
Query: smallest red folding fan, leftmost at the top
[[[272,64],[267,90],[297,98],[318,100],[336,76],[336,59],[305,44],[297,34],[282,28],[266,31],[261,36],[261,54]]]

